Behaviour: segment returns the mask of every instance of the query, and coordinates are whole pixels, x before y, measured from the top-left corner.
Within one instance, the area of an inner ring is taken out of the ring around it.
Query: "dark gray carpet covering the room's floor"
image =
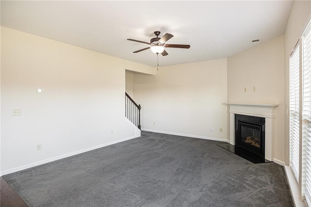
[[[4,179],[30,207],[293,207],[283,167],[222,142],[142,136]]]

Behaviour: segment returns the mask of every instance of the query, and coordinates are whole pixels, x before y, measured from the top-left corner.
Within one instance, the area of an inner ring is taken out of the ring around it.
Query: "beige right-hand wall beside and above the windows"
[[[284,33],[284,103],[289,109],[289,57],[311,18],[311,1],[294,0]],[[285,164],[289,165],[289,115],[285,115]]]

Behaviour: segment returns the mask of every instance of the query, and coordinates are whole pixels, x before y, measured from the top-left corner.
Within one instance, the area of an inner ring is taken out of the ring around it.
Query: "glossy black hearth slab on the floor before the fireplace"
[[[229,143],[224,143],[224,144],[217,144],[218,146],[240,156],[243,159],[246,159],[250,162],[253,162],[254,164],[258,163],[266,163],[266,162],[271,162],[267,159],[264,159],[263,157],[256,155],[254,153],[251,153],[241,147],[237,147],[235,145],[229,144]]]

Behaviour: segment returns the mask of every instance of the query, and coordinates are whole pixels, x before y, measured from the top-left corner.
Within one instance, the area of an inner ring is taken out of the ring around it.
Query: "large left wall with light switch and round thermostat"
[[[1,174],[133,138],[135,129],[124,117],[125,68],[154,73],[2,27]],[[16,108],[21,116],[12,116]]]

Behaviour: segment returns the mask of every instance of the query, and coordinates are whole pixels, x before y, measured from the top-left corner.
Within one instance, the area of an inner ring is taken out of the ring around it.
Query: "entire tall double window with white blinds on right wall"
[[[290,56],[289,95],[290,166],[311,207],[311,21]]]

